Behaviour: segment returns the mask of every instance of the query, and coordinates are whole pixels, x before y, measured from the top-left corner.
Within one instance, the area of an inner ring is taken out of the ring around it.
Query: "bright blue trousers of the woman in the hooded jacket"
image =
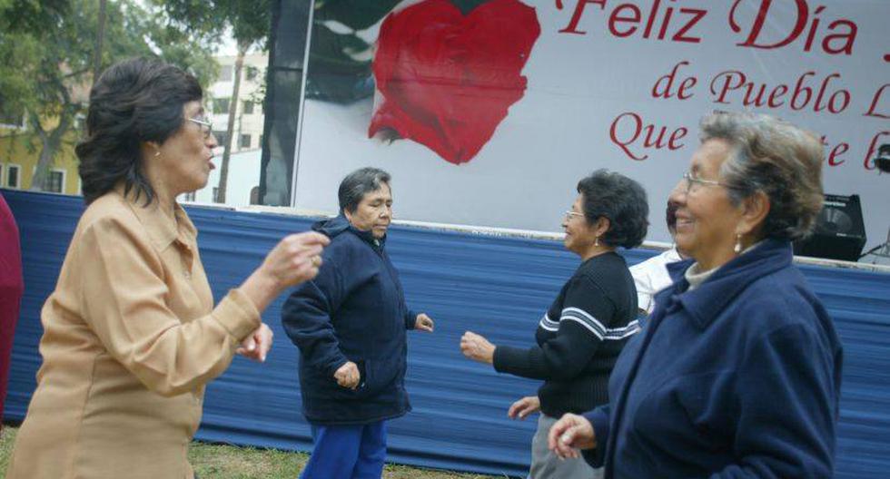
[[[386,423],[313,425],[312,457],[300,479],[380,479],[386,459]]]

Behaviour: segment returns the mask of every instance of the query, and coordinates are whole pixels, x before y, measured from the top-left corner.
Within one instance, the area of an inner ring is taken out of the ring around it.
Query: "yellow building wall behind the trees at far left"
[[[74,135],[69,135],[74,138]],[[29,146],[30,142],[30,146]],[[3,171],[0,173],[0,187],[7,188],[9,164],[19,166],[19,188],[28,190],[31,188],[31,180],[34,178],[35,166],[40,158],[40,141],[27,132],[0,129],[0,164]],[[74,144],[70,139],[63,142],[61,152],[56,153],[54,163],[50,167],[54,170],[64,170],[65,194],[80,194],[80,176],[77,174],[77,156],[74,154]]]

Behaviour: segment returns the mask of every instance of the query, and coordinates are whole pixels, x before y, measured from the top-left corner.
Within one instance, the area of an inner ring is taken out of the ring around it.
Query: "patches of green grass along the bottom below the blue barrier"
[[[0,436],[0,476],[6,474],[9,455],[13,452],[15,427],[5,426]],[[189,451],[189,462],[202,479],[296,479],[309,455],[257,449],[234,445],[211,445],[195,442]],[[447,471],[418,469],[387,464],[386,479],[484,479],[487,475],[458,474]]]

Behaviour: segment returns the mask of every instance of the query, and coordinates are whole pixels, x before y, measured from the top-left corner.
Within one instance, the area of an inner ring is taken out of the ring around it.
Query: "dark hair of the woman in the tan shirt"
[[[86,204],[120,181],[127,194],[134,190],[152,202],[142,143],[166,141],[183,125],[183,105],[202,98],[193,75],[160,60],[132,58],[105,70],[90,91],[86,138],[74,149]]]

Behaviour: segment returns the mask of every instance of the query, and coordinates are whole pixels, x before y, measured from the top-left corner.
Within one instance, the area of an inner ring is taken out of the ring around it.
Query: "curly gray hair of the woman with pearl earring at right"
[[[714,112],[702,118],[701,142],[723,140],[731,152],[720,167],[733,204],[763,191],[770,209],[764,236],[806,237],[822,210],[822,142],[812,132],[765,114]]]

